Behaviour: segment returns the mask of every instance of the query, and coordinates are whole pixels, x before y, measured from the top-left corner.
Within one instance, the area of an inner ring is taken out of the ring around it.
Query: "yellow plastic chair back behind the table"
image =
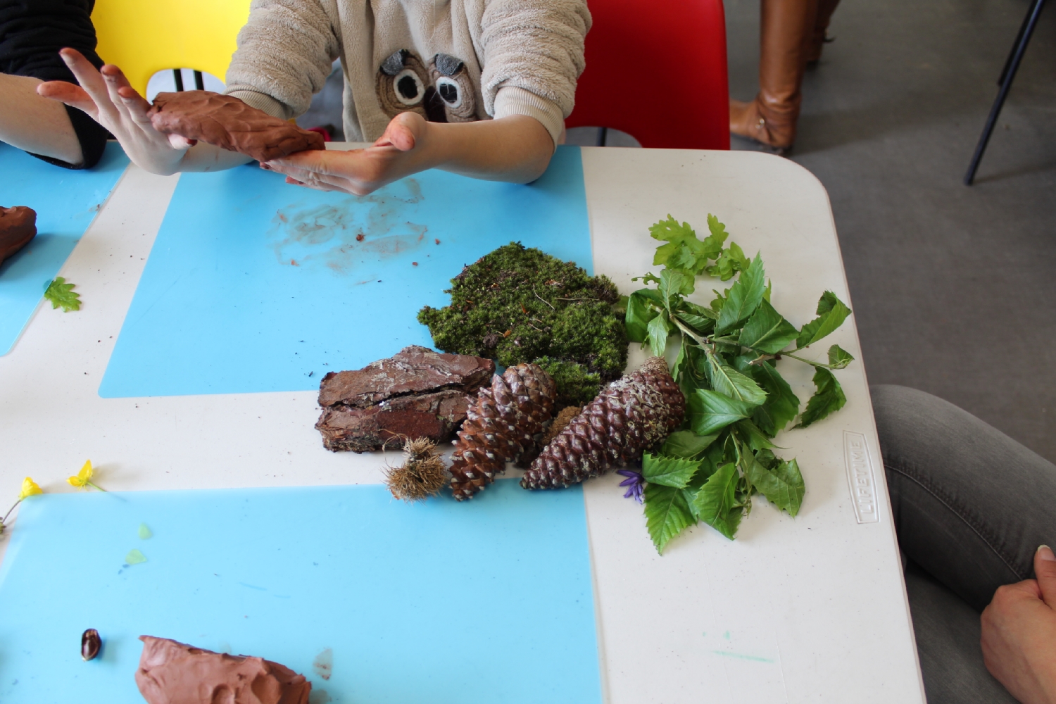
[[[125,72],[143,95],[166,69],[194,69],[225,79],[250,0],[96,0],[92,22],[99,56]]]

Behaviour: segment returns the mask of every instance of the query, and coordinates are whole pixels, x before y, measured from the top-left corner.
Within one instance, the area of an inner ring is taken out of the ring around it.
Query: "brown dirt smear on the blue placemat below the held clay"
[[[276,211],[268,244],[282,266],[324,267],[345,275],[359,264],[413,251],[426,241],[426,225],[415,223],[415,204],[423,199],[414,178],[370,195],[337,203],[295,203]]]

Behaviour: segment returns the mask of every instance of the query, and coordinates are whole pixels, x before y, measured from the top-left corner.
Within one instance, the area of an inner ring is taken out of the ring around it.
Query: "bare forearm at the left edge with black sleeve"
[[[78,166],[84,157],[70,115],[61,102],[37,95],[41,82],[0,74],[0,141]]]

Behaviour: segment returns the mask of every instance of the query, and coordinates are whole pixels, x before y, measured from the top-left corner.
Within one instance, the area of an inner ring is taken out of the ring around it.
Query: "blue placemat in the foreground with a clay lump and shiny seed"
[[[140,634],[282,663],[325,690],[313,703],[601,702],[579,488],[501,480],[416,506],[379,486],[63,494],[20,512],[4,704],[142,704]],[[103,640],[88,663],[86,628]]]

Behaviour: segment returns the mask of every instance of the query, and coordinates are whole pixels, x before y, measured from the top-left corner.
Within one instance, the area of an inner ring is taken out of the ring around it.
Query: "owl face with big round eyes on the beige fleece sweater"
[[[466,64],[448,54],[437,54],[427,68],[414,52],[394,52],[378,69],[377,93],[389,117],[416,112],[431,122],[477,119]]]

